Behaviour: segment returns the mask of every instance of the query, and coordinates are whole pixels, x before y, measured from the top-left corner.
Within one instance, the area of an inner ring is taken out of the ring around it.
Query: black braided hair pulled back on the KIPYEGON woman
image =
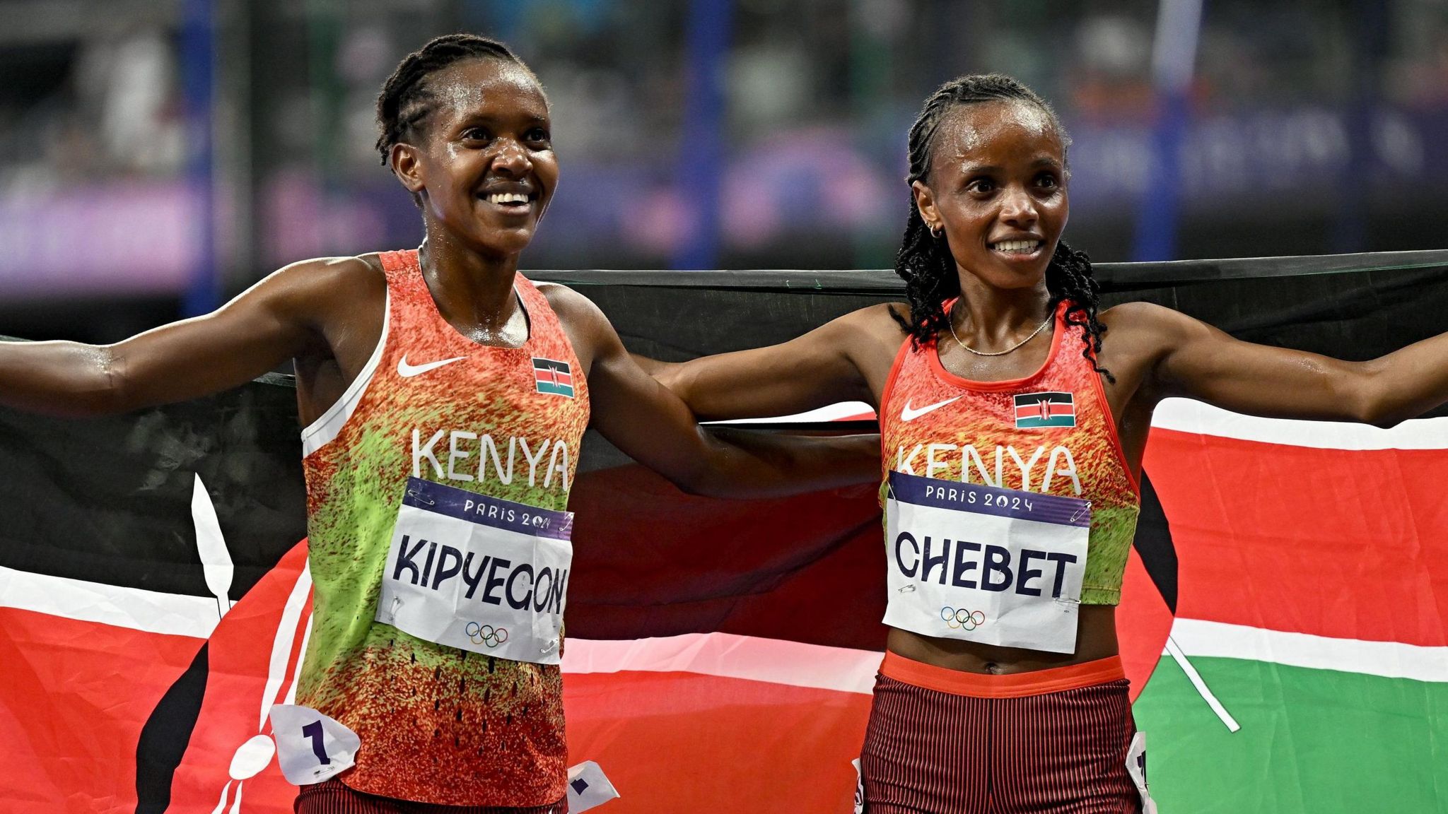
[[[416,133],[433,112],[437,97],[424,80],[462,59],[501,59],[533,72],[507,45],[487,36],[447,33],[427,41],[398,62],[376,97],[376,151],[384,167],[392,145]]]

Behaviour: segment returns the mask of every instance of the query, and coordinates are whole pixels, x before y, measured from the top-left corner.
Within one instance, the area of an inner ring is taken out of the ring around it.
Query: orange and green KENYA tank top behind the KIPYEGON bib
[[[352,729],[356,791],[446,805],[563,797],[556,665],[434,645],[374,621],[408,477],[562,511],[588,424],[588,384],[557,314],[517,277],[521,348],[478,345],[437,311],[416,251],[381,255],[382,337],[303,432],[314,588],[297,702]]]

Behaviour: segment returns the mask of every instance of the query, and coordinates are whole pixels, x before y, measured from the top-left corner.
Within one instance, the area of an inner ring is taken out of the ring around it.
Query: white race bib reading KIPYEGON
[[[408,478],[376,621],[515,662],[559,663],[573,513]]]

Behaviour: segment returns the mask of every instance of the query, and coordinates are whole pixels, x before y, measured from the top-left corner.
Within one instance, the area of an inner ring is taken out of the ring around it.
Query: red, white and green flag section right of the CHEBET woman
[[[1135,718],[1161,811],[1444,810],[1445,466],[1448,419],[1157,410],[1176,620]]]

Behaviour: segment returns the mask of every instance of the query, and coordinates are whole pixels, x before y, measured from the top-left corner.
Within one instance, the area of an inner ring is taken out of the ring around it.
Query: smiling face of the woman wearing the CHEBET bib
[[[1066,146],[1030,101],[963,104],[935,132],[930,174],[912,185],[957,271],[995,288],[1043,285],[1066,229]]]

